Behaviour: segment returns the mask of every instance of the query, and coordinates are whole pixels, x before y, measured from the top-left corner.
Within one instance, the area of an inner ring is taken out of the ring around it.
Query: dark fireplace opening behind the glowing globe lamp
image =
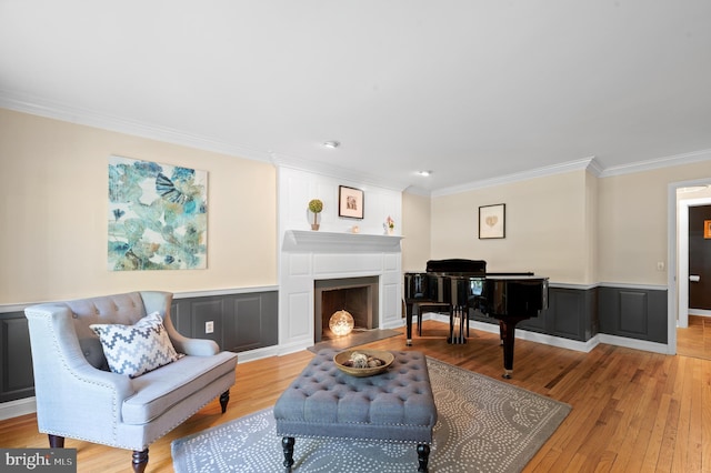
[[[378,276],[317,280],[313,284],[314,342],[339,336],[329,328],[331,315],[339,311],[351,314],[353,331],[378,328]]]

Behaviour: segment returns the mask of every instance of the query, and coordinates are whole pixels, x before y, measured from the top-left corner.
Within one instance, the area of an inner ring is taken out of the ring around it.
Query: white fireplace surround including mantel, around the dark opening
[[[401,236],[287,230],[279,271],[279,351],[314,344],[317,281],[373,278],[373,326],[402,326]]]

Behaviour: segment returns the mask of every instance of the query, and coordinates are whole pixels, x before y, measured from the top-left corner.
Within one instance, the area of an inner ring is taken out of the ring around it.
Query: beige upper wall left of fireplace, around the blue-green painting
[[[107,270],[108,157],[208,171],[208,269]],[[0,109],[0,304],[277,284],[273,165]]]

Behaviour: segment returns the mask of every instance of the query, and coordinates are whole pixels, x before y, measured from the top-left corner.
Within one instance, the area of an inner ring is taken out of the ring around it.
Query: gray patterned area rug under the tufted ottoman
[[[439,420],[430,472],[520,472],[571,407],[428,358]],[[283,471],[271,409],[173,441],[177,473]],[[294,473],[413,472],[409,444],[297,439]]]

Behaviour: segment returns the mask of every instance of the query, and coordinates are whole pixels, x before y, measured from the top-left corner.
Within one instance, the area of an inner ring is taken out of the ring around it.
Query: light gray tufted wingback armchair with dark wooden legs
[[[132,450],[133,470],[141,472],[151,442],[217,396],[226,411],[237,354],[220,352],[211,340],[179,334],[169,316],[171,302],[168,292],[132,292],[26,309],[38,426],[49,434],[50,446],[61,447],[71,437]],[[144,362],[164,354],[131,360],[136,345],[130,343],[141,339],[146,345],[144,336],[124,336],[113,328],[138,326],[149,314],[158,321],[158,330],[150,332],[167,334],[173,355],[158,363],[168,364],[147,371]],[[114,349],[109,360],[107,342]],[[122,371],[136,365],[141,366],[138,372]]]

